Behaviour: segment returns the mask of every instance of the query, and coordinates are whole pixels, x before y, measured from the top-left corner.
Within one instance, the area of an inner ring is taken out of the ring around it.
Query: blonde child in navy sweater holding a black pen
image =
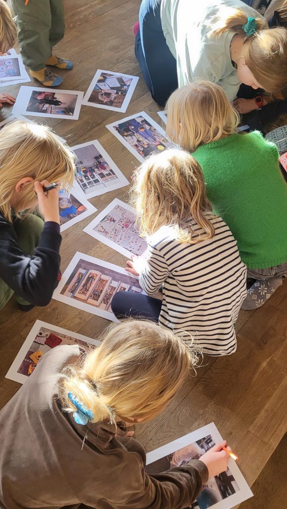
[[[27,121],[0,134],[0,309],[15,292],[30,310],[49,303],[60,275],[59,189],[72,185],[74,156],[48,127]],[[34,209],[44,218],[34,215]]]

